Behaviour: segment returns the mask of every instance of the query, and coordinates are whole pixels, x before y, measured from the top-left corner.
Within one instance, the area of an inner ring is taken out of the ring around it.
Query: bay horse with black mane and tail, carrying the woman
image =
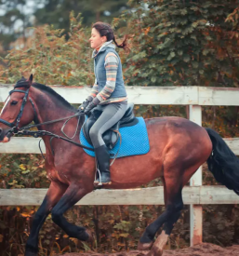
[[[40,124],[38,130],[47,130],[60,136],[64,121],[43,124],[77,113],[52,88],[33,83],[29,79],[17,84],[10,92],[0,114],[0,141],[10,140],[9,130]],[[159,96],[160,97],[160,96]],[[85,116],[81,115],[79,129],[73,141],[79,142],[79,132]],[[78,118],[73,117],[65,127],[65,132],[73,135]],[[160,117],[145,119],[150,141],[150,152],[118,158],[111,167],[112,184],[106,189],[135,188],[161,178],[164,184],[166,210],[145,229],[139,239],[138,249],[146,250],[148,256],[162,255],[167,237],[179,220],[183,208],[182,188],[193,173],[207,162],[218,182],[239,194],[239,160],[232,153],[219,134],[210,128],[180,117]],[[51,212],[52,220],[71,237],[90,241],[92,235],[85,227],[67,222],[63,217],[66,210],[94,190],[95,159],[87,155],[83,148],[68,141],[42,136],[46,145],[46,172],[50,180],[49,189],[40,208],[33,217],[30,236],[26,242],[25,256],[36,256],[38,234],[46,216]],[[54,151],[54,154],[52,152]],[[159,228],[162,233],[154,241]],[[154,241],[154,243],[153,243]]]

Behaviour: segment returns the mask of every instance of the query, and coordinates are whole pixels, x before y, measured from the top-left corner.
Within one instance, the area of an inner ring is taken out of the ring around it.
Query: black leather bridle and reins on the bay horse
[[[23,101],[21,103],[21,106],[20,106],[20,113],[19,115],[17,116],[16,120],[12,123],[10,122],[7,122],[6,120],[0,118],[0,123],[3,123],[5,125],[7,125],[8,127],[10,127],[10,129],[8,130],[7,132],[7,138],[10,138],[11,136],[13,135],[17,135],[17,134],[20,134],[20,135],[29,135],[29,136],[33,136],[34,138],[38,138],[38,137],[41,137],[41,136],[51,136],[51,139],[50,139],[50,146],[51,146],[51,151],[52,151],[52,154],[54,155],[54,151],[53,151],[53,148],[52,148],[52,145],[51,145],[51,141],[52,139],[56,138],[56,139],[60,139],[60,140],[63,140],[63,141],[68,141],[70,143],[73,143],[74,145],[76,146],[79,146],[79,147],[82,147],[82,148],[85,148],[87,150],[90,150],[90,151],[94,151],[94,149],[92,148],[89,148],[81,143],[78,143],[78,142],[75,142],[75,141],[71,141],[74,136],[76,135],[76,132],[77,132],[77,129],[79,127],[79,121],[80,121],[80,118],[78,118],[78,122],[77,122],[77,127],[76,127],[76,130],[74,132],[74,135],[72,138],[69,138],[63,131],[63,128],[65,127],[65,125],[68,123],[68,121],[70,119],[72,119],[73,117],[76,117],[76,116],[81,116],[81,115],[84,115],[83,112],[80,112],[80,113],[76,113],[74,115],[70,115],[70,116],[67,116],[67,117],[63,117],[63,118],[60,118],[60,119],[55,119],[55,120],[51,120],[51,121],[46,121],[44,123],[40,123],[40,124],[37,124],[37,125],[30,125],[30,126],[26,126],[26,127],[22,127],[22,128],[19,128],[19,124],[20,124],[20,117],[22,116],[22,113],[23,113],[23,110],[24,110],[24,107],[25,107],[25,104],[27,102],[27,98],[28,98],[28,95],[29,95],[29,89],[28,88],[27,90],[21,90],[21,89],[16,89],[16,88],[26,88],[27,86],[26,85],[16,85],[14,87],[13,90],[11,90],[9,92],[9,95],[11,95],[13,92],[21,92],[21,93],[24,93],[24,98],[23,98]],[[33,111],[34,111],[34,116],[37,117],[36,115],[36,110],[35,110],[35,107],[34,107],[34,104],[33,104],[33,101],[32,99],[29,97],[29,100],[30,102],[32,103],[32,106],[33,106]],[[37,127],[40,127],[40,126],[43,126],[43,125],[49,125],[49,124],[53,124],[53,123],[57,123],[57,122],[60,122],[62,120],[66,120],[66,122],[63,124],[62,128],[61,128],[61,132],[68,138],[64,138],[60,135],[57,135],[57,134],[54,134],[54,133],[51,133],[47,130],[37,130],[37,131],[32,131],[32,130],[29,130],[30,128],[37,128]],[[16,123],[16,125],[15,125]],[[40,151],[41,151],[41,154],[43,155],[42,153],[42,150],[41,150],[41,147],[40,147],[40,142],[39,141],[39,148],[40,148]],[[43,155],[44,157],[44,155]],[[45,158],[45,157],[44,157]]]

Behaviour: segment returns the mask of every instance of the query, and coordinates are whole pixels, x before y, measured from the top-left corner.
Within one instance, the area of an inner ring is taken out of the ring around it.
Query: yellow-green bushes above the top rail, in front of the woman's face
[[[15,83],[22,74],[33,73],[42,84],[83,86],[93,84],[91,51],[86,46],[89,30],[82,27],[80,15],[70,16],[69,40],[63,30],[46,25],[35,29],[31,47],[12,49],[2,66],[2,83]]]

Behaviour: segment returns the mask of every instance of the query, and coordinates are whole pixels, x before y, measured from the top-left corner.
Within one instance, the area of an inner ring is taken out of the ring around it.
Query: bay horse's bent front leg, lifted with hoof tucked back
[[[67,222],[63,214],[72,208],[83,196],[93,190],[92,184],[93,182],[91,181],[71,184],[65,194],[60,198],[58,204],[51,211],[53,222],[58,224],[68,236],[78,238],[81,241],[90,241],[92,239],[90,232],[85,227],[76,226],[73,223]]]

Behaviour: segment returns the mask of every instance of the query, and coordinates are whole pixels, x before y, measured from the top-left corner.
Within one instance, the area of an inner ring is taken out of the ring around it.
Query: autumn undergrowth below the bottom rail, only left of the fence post
[[[18,255],[24,251],[29,236],[33,214],[36,207],[2,207],[0,209],[0,249],[3,256],[7,253]],[[100,206],[73,207],[65,214],[69,222],[84,225],[95,233],[94,242],[86,244],[62,233],[50,216],[40,231],[39,255],[55,255],[63,249],[69,252],[116,252],[136,249],[139,236],[145,225],[163,212],[161,206]],[[15,216],[15,222],[10,221]],[[181,248],[189,243],[188,209],[175,226],[168,248]],[[11,246],[10,246],[11,245]]]

